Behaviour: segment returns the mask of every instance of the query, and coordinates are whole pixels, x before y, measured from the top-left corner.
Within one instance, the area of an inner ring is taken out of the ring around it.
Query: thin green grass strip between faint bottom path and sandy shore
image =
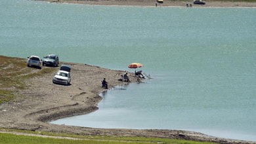
[[[79,139],[90,139],[92,141],[102,142],[103,141],[111,141],[111,143],[116,141],[122,141],[122,143],[171,143],[171,144],[214,144],[209,142],[198,142],[198,141],[186,141],[180,139],[167,139],[167,138],[158,138],[158,137],[112,137],[112,136],[89,136],[89,135],[75,135],[75,134],[60,134],[53,132],[32,132],[28,130],[13,130],[13,129],[3,129],[0,130],[8,131],[8,132],[21,132],[26,134],[41,134],[41,135],[51,135],[51,136],[60,136],[60,137],[73,137]],[[35,137],[36,138],[36,137]],[[88,140],[87,140],[88,141]],[[119,143],[119,142],[118,142]]]

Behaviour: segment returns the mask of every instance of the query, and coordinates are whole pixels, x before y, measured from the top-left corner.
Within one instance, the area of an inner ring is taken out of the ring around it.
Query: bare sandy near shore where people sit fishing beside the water
[[[19,60],[23,63],[26,62],[24,59]],[[54,71],[52,73],[26,79],[28,88],[15,90],[17,94],[22,96],[0,105],[0,128],[64,132],[66,134],[79,135],[166,137],[217,143],[255,143],[252,141],[223,139],[182,130],[100,129],[50,124],[51,120],[58,118],[96,111],[98,109],[97,103],[102,99],[98,94],[105,90],[101,88],[100,82],[103,77],[106,77],[110,88],[119,84],[127,84],[127,82],[117,81],[125,71],[104,69],[82,63],[66,64],[72,65],[70,86],[53,84],[53,75],[58,71],[59,67],[53,67]],[[33,68],[27,67],[22,71],[26,71],[26,69],[31,70]],[[33,69],[33,72],[38,71],[44,71],[44,69]],[[129,73],[131,82],[137,82],[138,78],[133,76],[134,73]]]

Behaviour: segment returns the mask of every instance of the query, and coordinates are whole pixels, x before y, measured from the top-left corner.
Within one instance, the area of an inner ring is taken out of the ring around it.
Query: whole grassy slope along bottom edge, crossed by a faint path
[[[104,139],[105,138],[105,139]],[[37,137],[28,135],[0,134],[1,143],[170,143],[170,144],[214,144],[208,142],[186,141],[177,139],[145,138],[145,137],[90,137],[89,139],[59,139],[53,137]]]

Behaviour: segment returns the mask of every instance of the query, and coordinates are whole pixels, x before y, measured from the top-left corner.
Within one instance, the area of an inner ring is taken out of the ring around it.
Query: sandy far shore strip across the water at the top
[[[83,5],[116,5],[116,6],[139,6],[156,7],[156,0],[35,0],[48,1],[49,3],[75,3]],[[251,2],[232,2],[232,1],[207,1],[205,5],[194,5],[193,1],[164,1],[158,3],[158,7],[186,7],[186,4],[192,4],[192,7],[255,7],[256,3]]]

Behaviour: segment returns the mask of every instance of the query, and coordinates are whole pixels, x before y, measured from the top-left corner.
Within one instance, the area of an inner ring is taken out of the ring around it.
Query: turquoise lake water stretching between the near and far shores
[[[256,9],[104,7],[0,1],[0,54],[153,79],[114,88],[89,115],[55,124],[178,129],[256,141]]]

